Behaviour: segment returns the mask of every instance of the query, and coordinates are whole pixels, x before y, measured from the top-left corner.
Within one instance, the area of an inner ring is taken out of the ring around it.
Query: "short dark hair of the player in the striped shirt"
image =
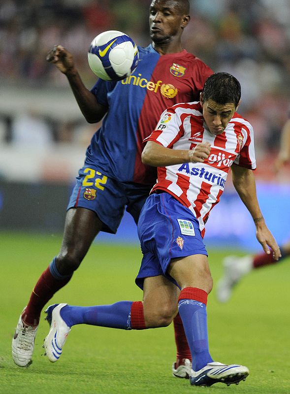
[[[233,75],[216,72],[206,79],[202,98],[203,101],[212,99],[218,104],[232,102],[237,106],[241,98],[241,85]]]

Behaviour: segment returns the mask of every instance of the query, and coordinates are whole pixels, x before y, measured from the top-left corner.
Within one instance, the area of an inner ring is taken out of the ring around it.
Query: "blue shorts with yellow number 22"
[[[125,208],[137,224],[151,188],[152,185],[118,182],[94,166],[83,167],[79,170],[67,209],[82,207],[95,211],[104,224],[102,231],[115,234]]]

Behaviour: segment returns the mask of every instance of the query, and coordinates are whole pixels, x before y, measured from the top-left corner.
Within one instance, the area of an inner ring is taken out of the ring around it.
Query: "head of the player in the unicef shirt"
[[[154,42],[164,42],[182,33],[189,22],[188,15],[180,14],[176,0],[153,0],[150,5],[150,37]]]

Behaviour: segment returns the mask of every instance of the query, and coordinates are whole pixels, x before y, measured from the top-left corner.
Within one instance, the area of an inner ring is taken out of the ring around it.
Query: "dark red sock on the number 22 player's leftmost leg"
[[[71,276],[58,280],[52,276],[49,267],[42,273],[36,283],[29,303],[22,314],[22,320],[29,326],[37,326],[42,308],[50,298],[70,280]]]

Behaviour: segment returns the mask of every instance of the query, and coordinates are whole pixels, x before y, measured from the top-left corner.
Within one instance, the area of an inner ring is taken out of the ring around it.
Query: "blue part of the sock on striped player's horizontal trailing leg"
[[[76,324],[131,329],[132,301],[120,301],[112,305],[71,306],[61,309],[61,316],[68,327]]]

